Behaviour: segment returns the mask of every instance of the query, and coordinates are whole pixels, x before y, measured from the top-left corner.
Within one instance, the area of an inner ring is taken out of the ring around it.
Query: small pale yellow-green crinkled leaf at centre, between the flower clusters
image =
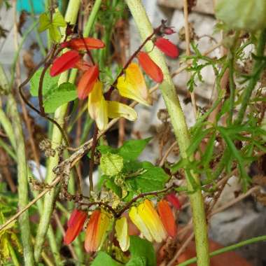
[[[105,153],[100,160],[100,167],[106,176],[116,176],[123,169],[123,158],[113,153]]]

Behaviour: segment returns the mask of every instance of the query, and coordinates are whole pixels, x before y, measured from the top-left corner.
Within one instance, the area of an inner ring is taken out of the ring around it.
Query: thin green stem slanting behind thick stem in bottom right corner
[[[241,246],[246,246],[249,244],[257,243],[259,241],[266,241],[266,235],[262,235],[260,237],[253,237],[251,239],[238,242],[237,244],[234,244],[231,246],[225,246],[224,248],[220,248],[216,251],[211,252],[210,257],[214,257],[215,255],[220,255],[220,254],[228,252],[228,251],[233,251],[237,248],[241,248]],[[197,258],[190,258],[189,260],[186,260],[182,263],[179,263],[177,266],[186,266],[186,265],[190,265],[190,264],[195,263],[195,262],[197,262]]]

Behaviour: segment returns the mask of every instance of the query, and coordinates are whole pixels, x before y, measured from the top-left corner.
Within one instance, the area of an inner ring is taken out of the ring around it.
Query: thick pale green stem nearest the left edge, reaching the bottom
[[[25,143],[22,133],[20,115],[17,104],[12,94],[8,96],[8,107],[12,120],[13,131],[16,142],[16,155],[18,160],[18,207],[23,209],[29,202],[28,199],[28,179],[27,179],[27,160],[25,154]],[[25,211],[19,218],[20,232],[23,244],[23,257],[25,265],[34,266],[34,255],[31,244],[31,234],[29,229],[29,212]]]

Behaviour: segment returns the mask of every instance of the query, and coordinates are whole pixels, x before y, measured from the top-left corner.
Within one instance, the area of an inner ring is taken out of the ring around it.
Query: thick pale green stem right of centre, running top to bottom
[[[142,6],[141,0],[126,0],[126,2],[139,29],[141,38],[144,41],[153,32],[153,27],[151,22],[148,20],[144,6]],[[153,48],[153,43],[151,41],[148,41],[145,48],[147,51],[151,51],[149,55],[153,61],[158,64],[160,69],[162,69],[162,73],[164,74],[164,80],[160,85],[160,90],[162,91],[162,97],[165,100],[165,104],[174,127],[174,133],[176,134],[181,156],[182,158],[188,158],[186,151],[190,146],[190,135],[186,125],[185,116],[179,103],[179,98],[176,94],[174,83],[168,71],[167,64],[165,63],[165,58],[156,47]],[[198,176],[193,174],[193,178],[196,183],[200,184]],[[187,182],[188,188],[193,190],[192,183],[190,183],[189,179],[187,179]],[[190,194],[189,197],[191,207],[193,209],[193,223],[198,258],[197,265],[208,266],[209,243],[207,235],[207,221],[205,218],[204,201],[201,190],[198,189],[195,193]]]

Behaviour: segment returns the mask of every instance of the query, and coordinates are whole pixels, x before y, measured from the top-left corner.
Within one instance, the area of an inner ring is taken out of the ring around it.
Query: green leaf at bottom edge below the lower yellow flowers
[[[140,261],[144,262],[143,258],[146,258],[145,265],[147,266],[156,265],[156,256],[155,256],[153,244],[151,244],[151,242],[146,239],[141,239],[140,237],[130,236],[130,255],[131,255],[131,259],[129,262],[127,262],[127,263],[130,263],[129,265],[133,266],[132,260],[138,261],[138,262]],[[141,258],[141,260],[135,259],[135,258]],[[141,264],[138,264],[138,265],[141,265]]]

